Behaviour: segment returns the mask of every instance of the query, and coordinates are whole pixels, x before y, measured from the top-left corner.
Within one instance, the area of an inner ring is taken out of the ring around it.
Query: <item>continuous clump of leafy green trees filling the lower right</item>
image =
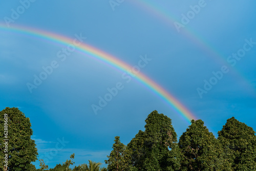
[[[202,120],[191,120],[179,142],[167,116],[153,111],[145,123],[145,131],[139,130],[127,146],[116,137],[111,152],[116,164],[111,168],[113,162],[106,162],[109,170],[256,170],[255,132],[233,117],[218,139]]]

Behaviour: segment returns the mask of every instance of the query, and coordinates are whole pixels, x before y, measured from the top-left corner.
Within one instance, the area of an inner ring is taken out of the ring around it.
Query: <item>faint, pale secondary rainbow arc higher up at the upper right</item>
[[[132,0],[129,1],[129,3],[134,4],[134,6],[141,8],[142,10],[146,11],[147,13],[154,14],[154,17],[157,17],[158,19],[162,20],[163,23],[168,25],[170,28],[172,28],[175,32],[177,32],[177,29],[174,25],[175,22],[180,22],[180,19],[178,19],[175,15],[170,13],[171,11],[166,11],[162,7],[159,7],[156,3],[148,2],[145,0]],[[208,4],[209,2],[207,2]],[[207,7],[207,6],[206,6]],[[204,7],[204,8],[206,8]],[[202,9],[201,9],[202,10]],[[177,32],[178,33],[178,32]],[[252,86],[251,82],[248,81],[245,76],[241,74],[238,70],[236,70],[234,67],[231,67],[230,64],[226,61],[227,56],[222,55],[214,46],[210,44],[210,42],[207,42],[200,36],[198,33],[193,31],[191,28],[189,28],[187,25],[184,28],[181,28],[181,31],[179,34],[184,35],[186,38],[190,39],[191,42],[194,42],[195,45],[197,45],[200,49],[202,49],[207,56],[214,58],[215,62],[218,62],[220,66],[227,66],[228,69],[232,72],[231,73],[236,79],[239,78],[239,83],[243,84],[243,86],[246,87],[247,90],[250,90],[253,93],[256,93],[255,88]]]

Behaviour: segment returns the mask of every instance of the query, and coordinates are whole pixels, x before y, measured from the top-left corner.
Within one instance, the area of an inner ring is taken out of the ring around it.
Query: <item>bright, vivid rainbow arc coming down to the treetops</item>
[[[13,26],[7,27],[4,24],[0,24],[0,30],[2,31],[12,31],[19,34],[25,34],[33,37],[39,37],[40,39],[49,40],[51,42],[57,42],[58,44],[68,46],[73,43],[73,39],[58,35],[56,33],[51,33],[44,30],[39,30],[35,28],[28,28],[24,26]],[[88,44],[81,44],[76,49],[82,52],[84,55],[92,57],[94,59],[103,61],[104,63],[113,66],[114,68],[126,72],[130,70],[132,66],[128,65],[127,63],[123,62],[122,60],[103,52],[95,47],[92,47]],[[146,75],[142,74],[141,72],[138,73],[135,77],[139,82],[141,82],[146,88],[150,89],[156,95],[158,95],[162,100],[167,102],[167,104],[174,109],[183,119],[185,119],[188,123],[192,119],[197,120],[196,116],[193,115],[188,109],[182,105],[178,99],[176,99],[172,94],[168,93],[164,90],[158,83],[153,81],[152,79],[148,78]]]

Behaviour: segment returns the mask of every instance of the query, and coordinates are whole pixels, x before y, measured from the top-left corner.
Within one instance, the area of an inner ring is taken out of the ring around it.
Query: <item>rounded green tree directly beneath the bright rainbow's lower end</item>
[[[183,154],[183,170],[231,170],[223,148],[201,119],[191,120],[178,144]]]

